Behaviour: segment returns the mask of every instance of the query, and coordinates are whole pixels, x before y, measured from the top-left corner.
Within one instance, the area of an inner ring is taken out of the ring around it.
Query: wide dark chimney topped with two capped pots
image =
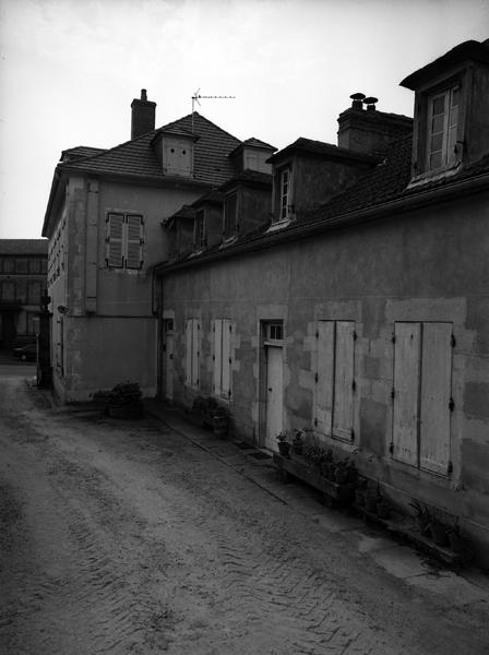
[[[383,155],[390,142],[413,131],[413,119],[378,111],[374,97],[354,93],[351,107],[338,117],[338,146],[366,155]],[[363,108],[365,107],[365,108]]]

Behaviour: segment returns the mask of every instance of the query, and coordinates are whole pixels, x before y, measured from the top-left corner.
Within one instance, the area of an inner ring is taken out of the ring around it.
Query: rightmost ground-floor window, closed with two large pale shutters
[[[395,323],[392,456],[450,469],[452,323]]]

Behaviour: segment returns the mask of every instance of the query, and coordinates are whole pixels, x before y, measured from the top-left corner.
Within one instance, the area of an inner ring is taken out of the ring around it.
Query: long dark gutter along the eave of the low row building
[[[387,215],[392,215],[393,213],[406,213],[433,203],[460,199],[462,195],[466,195],[467,193],[484,192],[488,190],[489,174],[482,174],[478,177],[469,178],[467,180],[444,186],[442,188],[419,191],[416,194],[387,201],[371,207],[357,210],[347,214],[338,214],[330,219],[320,219],[312,224],[296,224],[294,227],[283,231],[276,231],[270,236],[264,234],[258,237],[255,240],[218,250],[198,259],[186,260],[176,264],[166,264],[163,262],[155,265],[154,273],[156,275],[163,275],[164,273],[171,273],[174,271],[180,271],[191,266],[204,265],[210,262],[228,259],[230,257],[236,257],[248,252],[266,250],[267,248],[289,242],[291,237],[294,239],[305,239],[311,236],[327,233],[330,230],[353,227],[370,221],[380,219]]]

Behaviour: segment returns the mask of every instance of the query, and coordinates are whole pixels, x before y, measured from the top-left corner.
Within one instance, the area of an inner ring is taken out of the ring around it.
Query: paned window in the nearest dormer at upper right
[[[458,86],[428,98],[427,170],[457,159],[458,104]]]

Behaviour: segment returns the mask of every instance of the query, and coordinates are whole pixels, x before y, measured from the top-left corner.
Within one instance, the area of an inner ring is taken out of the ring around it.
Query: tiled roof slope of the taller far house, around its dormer
[[[159,131],[175,130],[186,130],[187,133],[192,133],[192,115],[93,157],[69,165],[61,164],[60,168],[69,166],[70,169],[93,174],[127,175],[142,180],[163,180],[165,176],[156,151],[152,147],[152,141]],[[232,164],[227,155],[240,144],[240,141],[196,111],[193,115],[193,133],[199,139],[194,144],[193,178],[190,181],[213,186],[222,184],[234,175]]]

